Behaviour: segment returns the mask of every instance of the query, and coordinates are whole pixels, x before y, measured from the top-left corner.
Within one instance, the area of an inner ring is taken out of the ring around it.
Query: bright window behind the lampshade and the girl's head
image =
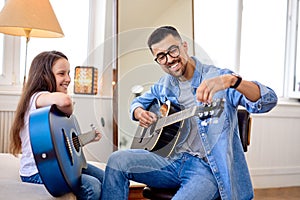
[[[88,56],[89,1],[72,1],[71,7],[70,1],[50,0],[50,3],[65,36],[62,38],[30,38],[26,64],[27,74],[31,61],[37,54],[42,51],[57,50],[68,57],[71,65],[70,76],[73,78],[75,67],[85,65]],[[25,71],[25,45],[26,39],[21,37],[21,83]],[[69,87],[69,89],[73,88]]]

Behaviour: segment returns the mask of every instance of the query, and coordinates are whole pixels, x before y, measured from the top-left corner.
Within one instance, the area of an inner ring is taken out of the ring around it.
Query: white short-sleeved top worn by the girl
[[[43,93],[49,93],[47,91],[37,92],[30,98],[29,108],[24,117],[24,127],[20,132],[20,137],[22,141],[22,157],[20,161],[20,175],[21,176],[32,176],[38,173],[36,167],[31,144],[29,138],[29,113],[36,110],[36,99],[39,95]]]

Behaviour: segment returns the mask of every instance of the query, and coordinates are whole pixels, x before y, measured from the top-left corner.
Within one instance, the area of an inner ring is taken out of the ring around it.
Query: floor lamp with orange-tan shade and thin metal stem
[[[49,0],[7,0],[0,12],[0,33],[25,36],[25,73],[27,73],[27,48],[30,37],[63,37]]]

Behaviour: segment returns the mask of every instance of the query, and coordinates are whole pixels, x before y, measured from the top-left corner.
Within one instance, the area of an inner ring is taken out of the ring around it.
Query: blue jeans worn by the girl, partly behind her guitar
[[[74,191],[78,200],[99,200],[104,171],[88,164],[87,169],[82,169],[81,185],[79,191]],[[23,182],[43,184],[40,174],[29,177],[21,176]]]

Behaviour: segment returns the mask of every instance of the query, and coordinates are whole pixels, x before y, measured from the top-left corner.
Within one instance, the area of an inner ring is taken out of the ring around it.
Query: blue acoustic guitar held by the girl
[[[87,166],[82,147],[95,138],[95,129],[81,134],[76,117],[67,117],[52,105],[30,114],[29,133],[35,163],[48,192],[58,197],[78,190],[82,168]]]

